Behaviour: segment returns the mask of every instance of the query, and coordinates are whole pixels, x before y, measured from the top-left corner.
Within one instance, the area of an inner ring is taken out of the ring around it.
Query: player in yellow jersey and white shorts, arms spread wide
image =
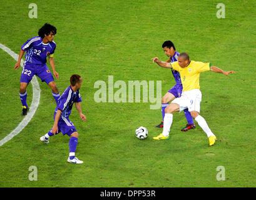
[[[213,71],[215,73],[221,73],[225,76],[235,73],[234,71],[223,71],[216,66],[212,66],[210,63],[202,63],[196,61],[190,61],[187,53],[181,53],[178,56],[178,61],[174,63],[166,63],[160,61],[160,59],[153,58],[153,62],[161,66],[162,68],[170,68],[180,73],[182,79],[183,91],[180,98],[176,98],[169,106],[165,108],[165,119],[163,121],[163,133],[154,137],[155,140],[169,139],[170,128],[173,121],[173,113],[183,111],[188,108],[192,117],[197,121],[198,125],[207,134],[209,145],[212,146],[217,140],[215,134],[212,133],[208,127],[205,119],[200,116],[200,103],[202,100],[202,93],[200,91],[199,78],[200,73],[204,71]]]

